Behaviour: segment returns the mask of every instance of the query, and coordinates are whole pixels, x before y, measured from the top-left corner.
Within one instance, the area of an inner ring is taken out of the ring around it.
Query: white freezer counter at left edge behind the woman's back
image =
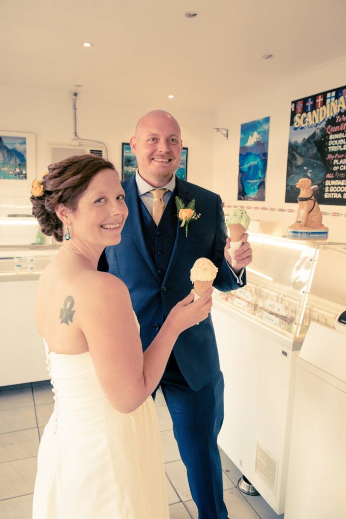
[[[42,337],[35,327],[41,271],[57,247],[0,248],[0,386],[48,378]]]

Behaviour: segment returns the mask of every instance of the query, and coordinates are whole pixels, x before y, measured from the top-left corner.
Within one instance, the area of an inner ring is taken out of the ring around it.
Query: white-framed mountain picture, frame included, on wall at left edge
[[[35,133],[0,130],[0,186],[29,187],[35,176]]]

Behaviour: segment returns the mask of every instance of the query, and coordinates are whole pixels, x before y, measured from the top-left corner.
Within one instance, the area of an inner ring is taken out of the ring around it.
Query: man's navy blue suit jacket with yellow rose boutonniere
[[[124,181],[122,185],[126,193],[128,217],[121,242],[105,249],[98,268],[111,272],[127,285],[145,350],[171,308],[191,291],[190,270],[198,258],[207,257],[218,267],[218,275],[213,283],[215,288],[228,291],[239,288],[239,285],[224,258],[227,234],[219,195],[176,179],[176,189],[171,195],[173,200],[168,202],[171,218],[168,227],[162,229],[164,233],[174,233],[176,236],[162,279],[143,236],[139,207],[142,202],[138,197],[135,177]],[[199,220],[189,224],[187,238],[176,216],[175,196],[179,196],[185,204],[194,198],[196,213],[201,215]],[[173,351],[192,389],[199,390],[208,384],[220,370],[211,316],[181,333]]]

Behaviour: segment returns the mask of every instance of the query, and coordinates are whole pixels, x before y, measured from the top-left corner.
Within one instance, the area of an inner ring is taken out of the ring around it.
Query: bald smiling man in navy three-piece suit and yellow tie
[[[220,197],[174,174],[182,141],[172,115],[155,110],[141,117],[131,148],[138,170],[123,182],[128,218],[121,242],[106,248],[99,269],[127,285],[145,350],[171,308],[191,291],[190,270],[197,258],[207,257],[218,267],[214,286],[228,291],[246,282],[244,267],[252,252],[245,235],[232,269]],[[187,237],[177,218],[177,196],[185,205],[195,199],[200,213]],[[217,445],[224,383],[210,315],[179,336],[161,388],[199,519],[227,519]]]

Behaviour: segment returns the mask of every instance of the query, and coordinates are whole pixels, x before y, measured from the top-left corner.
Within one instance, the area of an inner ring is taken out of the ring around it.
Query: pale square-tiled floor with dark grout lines
[[[39,437],[53,408],[49,382],[0,388],[0,519],[30,519]],[[172,421],[158,391],[170,519],[198,519]],[[221,451],[224,499],[229,519],[282,519],[261,496],[244,496],[236,487],[237,467]],[[97,518],[95,518],[97,519]]]

